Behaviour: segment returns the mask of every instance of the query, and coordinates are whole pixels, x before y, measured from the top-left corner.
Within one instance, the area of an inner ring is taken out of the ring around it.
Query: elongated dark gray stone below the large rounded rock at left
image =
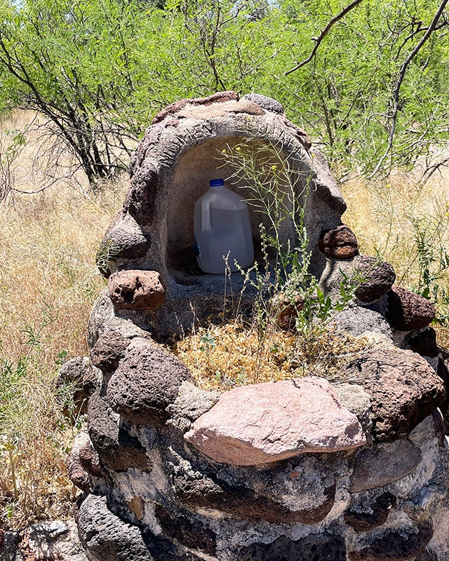
[[[100,461],[114,471],[140,468],[149,471],[152,462],[139,440],[120,425],[119,416],[109,410],[99,393],[94,393],[88,406],[88,433]]]

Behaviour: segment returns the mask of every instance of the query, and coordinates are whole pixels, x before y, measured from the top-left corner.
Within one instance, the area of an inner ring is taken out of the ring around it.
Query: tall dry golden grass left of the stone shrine
[[[55,186],[0,214],[0,507],[8,527],[66,515],[73,436],[55,393],[58,362],[86,355],[86,323],[105,285],[95,252],[123,185],[95,200]]]

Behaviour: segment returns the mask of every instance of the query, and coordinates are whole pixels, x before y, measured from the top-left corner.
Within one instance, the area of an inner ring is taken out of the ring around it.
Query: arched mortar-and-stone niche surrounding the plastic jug
[[[150,315],[140,313],[135,318],[134,314],[133,320],[142,327],[162,333],[175,327],[175,316],[178,324],[188,327],[192,301],[195,304],[201,297],[211,305],[214,299],[222,302],[223,276],[203,274],[196,266],[194,203],[206,192],[210,179],[232,175],[234,169],[223,161],[222,151],[242,141],[266,145],[268,150],[276,147],[300,178],[295,189],[304,203],[311,272],[321,276],[326,265],[318,250],[321,232],[340,225],[346,205],[325,159],[311,148],[304,131],[286,119],[281,104],[264,96],[253,94],[239,100],[234,92],[222,92],[183,100],[163,109],[147,129],[130,165],[130,189],[123,208],[98,254],[105,276],[123,269],[159,273],[165,304]],[[251,198],[239,182],[230,180],[227,187]],[[268,227],[269,221],[251,205],[250,218],[255,258],[260,259],[260,224]],[[291,219],[283,222],[280,234],[283,243],[297,247]],[[243,276],[234,273],[233,283],[239,290]],[[247,294],[250,297],[250,291]],[[203,304],[199,307],[210,311]]]

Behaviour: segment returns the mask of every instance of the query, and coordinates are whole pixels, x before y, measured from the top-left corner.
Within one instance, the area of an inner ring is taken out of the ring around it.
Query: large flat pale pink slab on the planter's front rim
[[[314,377],[227,391],[194,422],[185,439],[211,459],[234,466],[366,443],[356,415],[342,406],[327,380]]]

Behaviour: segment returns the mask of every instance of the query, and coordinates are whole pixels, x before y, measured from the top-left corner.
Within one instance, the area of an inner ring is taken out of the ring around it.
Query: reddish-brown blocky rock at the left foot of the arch
[[[109,277],[109,297],[116,309],[156,310],[166,292],[156,271],[117,271]]]

